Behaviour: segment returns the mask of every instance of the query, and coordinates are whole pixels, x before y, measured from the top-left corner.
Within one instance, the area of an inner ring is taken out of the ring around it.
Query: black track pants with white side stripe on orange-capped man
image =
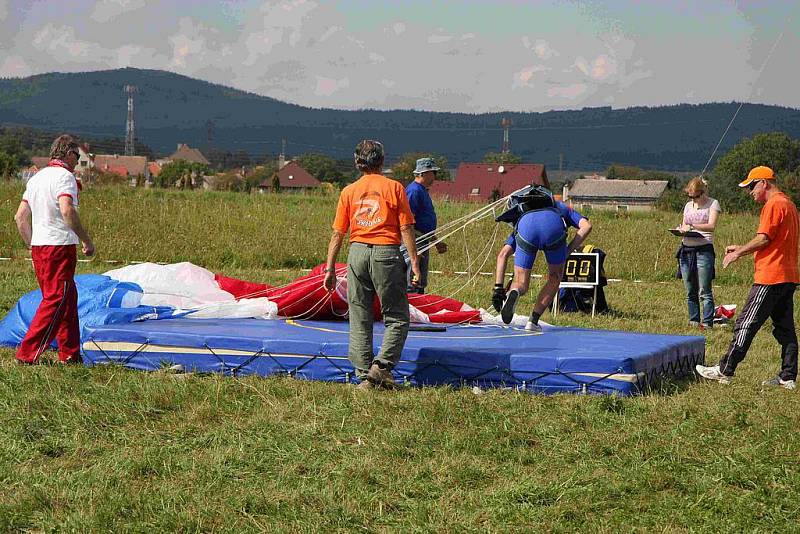
[[[797,379],[797,333],[794,328],[794,291],[796,284],[753,284],[744,310],[733,328],[733,340],[719,362],[722,374],[733,376],[744,360],[750,343],[767,320],[772,319],[772,335],[781,345],[783,380]]]

